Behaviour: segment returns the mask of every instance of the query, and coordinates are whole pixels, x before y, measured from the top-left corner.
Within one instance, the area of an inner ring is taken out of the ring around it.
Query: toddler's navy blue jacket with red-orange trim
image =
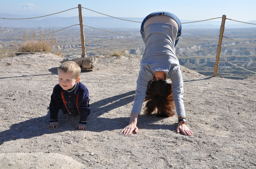
[[[62,93],[64,99],[62,98]],[[89,105],[89,91],[81,82],[77,83],[75,90],[71,93],[68,93],[66,90],[63,90],[59,84],[53,88],[53,93],[51,96],[50,103],[50,118],[58,119],[58,113],[61,109],[64,114],[80,114],[80,121],[87,121],[87,117],[90,114],[90,105]],[[65,103],[66,102],[66,105]]]

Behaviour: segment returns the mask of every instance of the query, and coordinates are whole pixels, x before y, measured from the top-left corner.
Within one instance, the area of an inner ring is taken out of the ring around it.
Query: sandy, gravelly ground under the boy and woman
[[[192,136],[176,133],[177,116],[129,123],[140,57],[101,57],[81,73],[90,93],[87,130],[79,116],[59,114],[49,129],[49,103],[63,58],[27,54],[0,59],[0,166],[12,168],[256,168],[256,76],[233,80],[182,67]],[[143,112],[143,108],[142,108]],[[42,165],[44,164],[44,165]]]

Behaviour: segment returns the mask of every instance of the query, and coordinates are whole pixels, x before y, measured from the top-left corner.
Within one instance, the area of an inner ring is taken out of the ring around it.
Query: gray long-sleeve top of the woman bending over
[[[141,112],[148,82],[156,71],[166,73],[172,81],[172,95],[178,116],[185,116],[183,103],[183,80],[174,43],[178,29],[168,23],[152,23],[144,27],[145,52],[140,63],[140,73],[131,113]]]

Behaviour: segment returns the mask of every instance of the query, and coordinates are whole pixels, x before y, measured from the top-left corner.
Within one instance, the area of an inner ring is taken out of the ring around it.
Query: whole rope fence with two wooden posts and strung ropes
[[[118,32],[107,31],[107,30],[103,30],[103,29],[99,29],[99,28],[94,28],[94,27],[91,27],[91,26],[88,26],[88,25],[84,25],[84,24],[83,24],[83,19],[82,19],[82,8],[84,8],[84,7],[81,7],[81,5],[79,4],[78,7],[76,7],[76,8],[79,9],[79,22],[80,22],[80,24],[71,25],[71,26],[69,26],[69,27],[60,29],[60,30],[58,30],[58,31],[62,31],[62,30],[64,30],[64,29],[67,29],[67,28],[70,28],[70,27],[73,27],[73,26],[76,26],[76,25],[80,25],[82,47],[79,47],[79,48],[82,48],[82,51],[84,50],[82,56],[86,55],[86,54],[85,54],[85,48],[89,48],[89,49],[92,49],[92,50],[103,51],[103,52],[109,52],[109,53],[123,54],[123,55],[142,56],[142,55],[124,54],[124,53],[119,53],[119,52],[111,52],[111,51],[100,50],[100,49],[91,48],[91,47],[85,47],[85,44],[83,45],[83,43],[84,43],[84,41],[85,41],[85,40],[84,40],[85,38],[84,38],[84,28],[83,28],[83,26],[89,27],[89,28],[93,28],[93,29],[96,29],[96,30],[111,32],[111,33],[119,34],[119,35],[134,36],[134,37],[141,37],[141,36],[121,34],[121,33],[118,33]],[[75,8],[67,9],[67,10],[65,10],[65,11],[61,11],[61,12],[57,12],[57,13],[66,12],[66,11],[69,11],[69,10],[72,10],[72,9],[75,9]],[[88,9],[88,8],[84,8],[84,9],[87,9],[87,10],[92,11],[92,12],[96,12],[96,11],[93,11],[93,10]],[[21,19],[36,19],[36,18],[40,18],[40,17],[46,17],[46,16],[55,15],[55,14],[57,14],[57,13],[53,13],[53,14],[45,15],[45,16],[39,16],[39,17],[21,18]],[[125,21],[131,21],[131,22],[141,23],[141,22],[139,22],[139,21],[126,20],[126,19],[122,19],[122,18],[118,18],[118,17],[106,15],[106,14],[100,13],[100,12],[96,12],[96,13],[99,13],[99,14],[105,15],[105,16],[109,16],[109,17],[113,17],[113,18],[119,19],[119,20],[125,20]],[[224,17],[224,16],[225,16],[225,17]],[[226,18],[226,15],[223,15],[222,17],[215,17],[215,18],[206,19],[206,20],[185,22],[185,23],[182,23],[182,24],[196,23],[196,22],[207,21],[207,20],[213,20],[213,19],[219,19],[219,18],[222,18],[222,25],[221,25],[221,27],[220,27],[220,35],[188,37],[188,38],[181,38],[181,39],[208,38],[208,37],[217,37],[217,36],[219,36],[219,45],[218,45],[218,48],[217,48],[217,56],[218,56],[218,53],[220,54],[221,45],[222,45],[222,38],[227,38],[227,39],[231,39],[231,40],[234,40],[234,41],[237,41],[237,42],[241,42],[241,43],[245,43],[245,44],[249,44],[249,45],[256,46],[256,44],[246,43],[246,42],[242,42],[242,41],[240,41],[240,40],[235,40],[235,39],[232,39],[232,38],[228,38],[228,37],[226,37],[226,36],[223,36],[224,28],[225,28],[225,20],[228,19],[228,18]],[[14,18],[3,18],[3,17],[0,17],[0,19],[21,20],[21,19],[19,19],[19,18],[14,19]],[[228,19],[228,20],[237,21],[237,20],[233,20],[233,19]],[[237,21],[237,22],[256,25],[256,24],[254,24],[254,23],[247,23],[247,22],[242,22],[242,21]],[[50,33],[48,33],[48,34],[44,34],[44,35],[40,35],[40,36],[26,37],[26,38],[7,38],[7,37],[2,37],[2,36],[0,36],[0,38],[4,38],[4,39],[29,39],[29,38],[38,38],[38,37],[41,37],[41,36],[46,36],[46,35],[49,35],[49,34],[54,34],[55,32],[58,32],[58,31],[50,32]],[[79,48],[71,48],[71,49],[66,49],[66,50],[55,50],[55,51],[42,51],[42,52],[67,51],[67,50],[75,50],[75,49],[79,49]],[[40,51],[40,52],[41,52],[41,51]],[[20,54],[22,54],[22,53],[40,53],[40,52],[0,52],[0,53],[20,53]],[[222,59],[222,58],[219,58],[219,56],[218,56],[218,57],[217,57],[217,56],[216,56],[215,67],[217,66],[217,71],[218,71],[218,65],[219,65],[218,62],[219,62],[219,61],[217,62],[217,59]],[[215,56],[188,56],[188,57],[178,57],[178,58],[198,58],[198,57],[215,57]],[[228,62],[227,60],[224,60],[224,59],[222,59],[222,60],[225,61],[225,62],[227,62],[227,63],[230,63],[230,62]],[[230,63],[230,64],[232,64],[232,65],[234,65],[234,66],[237,66],[237,65],[235,65],[235,64],[233,64],[233,63]],[[240,66],[237,66],[237,67],[240,67]],[[240,67],[240,68],[242,68],[242,67]],[[215,68],[214,68],[214,69],[215,69]],[[242,68],[242,69],[244,69],[244,70],[246,70],[246,71],[249,71],[249,72],[253,72],[253,71],[247,70],[247,69],[245,69],[245,68]],[[215,71],[215,70],[214,70],[214,71]],[[253,73],[255,73],[255,72],[253,72]],[[214,76],[216,76],[216,73],[214,73]]]

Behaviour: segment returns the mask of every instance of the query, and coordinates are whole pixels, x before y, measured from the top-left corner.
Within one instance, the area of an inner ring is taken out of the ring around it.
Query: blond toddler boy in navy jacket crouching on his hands
[[[80,114],[77,128],[86,129],[87,117],[90,114],[89,92],[80,81],[81,68],[73,61],[67,61],[58,67],[59,84],[53,88],[50,103],[49,128],[58,128],[58,113]]]

